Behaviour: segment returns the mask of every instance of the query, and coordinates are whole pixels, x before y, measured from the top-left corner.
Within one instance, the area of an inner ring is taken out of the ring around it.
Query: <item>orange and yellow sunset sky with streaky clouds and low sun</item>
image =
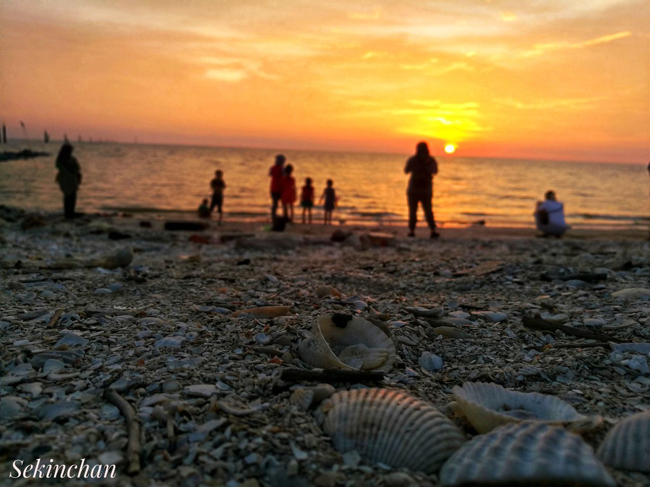
[[[0,0],[10,133],[650,160],[647,0]]]

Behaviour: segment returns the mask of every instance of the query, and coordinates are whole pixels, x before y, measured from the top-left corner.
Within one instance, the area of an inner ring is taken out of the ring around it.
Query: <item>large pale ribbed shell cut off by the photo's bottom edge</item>
[[[510,424],[474,436],[443,465],[445,487],[616,483],[580,436],[543,423]]]

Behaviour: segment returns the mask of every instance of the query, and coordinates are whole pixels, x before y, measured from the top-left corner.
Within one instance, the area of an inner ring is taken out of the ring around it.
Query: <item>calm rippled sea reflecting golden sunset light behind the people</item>
[[[0,162],[0,203],[57,210],[59,143],[10,142],[3,150],[48,151],[49,157]],[[268,168],[277,150],[177,145],[75,144],[83,172],[79,211],[194,211],[209,197],[216,169],[227,184],[226,218],[268,219]],[[314,181],[317,196],[328,178],[339,197],[335,219],[404,225],[406,155],[282,151],[296,186]],[[647,225],[650,205],[645,164],[596,164],[436,156],[435,218],[443,226],[485,220],[490,226],[532,227],[535,202],[553,189],[576,227]],[[299,189],[298,189],[299,191]],[[296,206],[296,212],[300,214]],[[322,208],[314,210],[320,219]],[[422,215],[419,220],[422,220]],[[422,223],[421,223],[422,225]]]

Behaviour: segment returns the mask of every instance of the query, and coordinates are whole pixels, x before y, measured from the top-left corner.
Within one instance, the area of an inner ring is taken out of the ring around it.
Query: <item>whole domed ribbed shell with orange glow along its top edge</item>
[[[333,447],[363,460],[434,473],[465,442],[463,433],[434,406],[389,389],[337,392],[317,413]]]

